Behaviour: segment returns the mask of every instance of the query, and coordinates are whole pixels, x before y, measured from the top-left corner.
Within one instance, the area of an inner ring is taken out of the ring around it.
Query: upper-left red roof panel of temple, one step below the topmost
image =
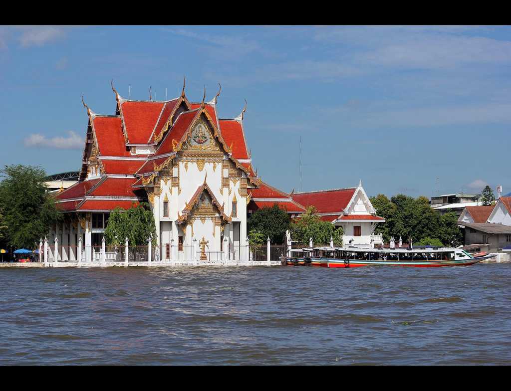
[[[101,155],[130,156],[124,143],[121,118],[96,116],[94,118],[94,130]]]

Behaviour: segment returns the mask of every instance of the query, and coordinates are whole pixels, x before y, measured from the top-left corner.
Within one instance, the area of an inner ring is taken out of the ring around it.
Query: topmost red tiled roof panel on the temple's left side
[[[128,141],[145,144],[153,132],[164,104],[162,102],[127,101],[121,105]]]

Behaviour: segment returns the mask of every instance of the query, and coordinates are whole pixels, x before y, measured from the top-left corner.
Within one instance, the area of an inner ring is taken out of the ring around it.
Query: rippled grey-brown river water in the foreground
[[[511,264],[0,270],[0,364],[510,364]]]

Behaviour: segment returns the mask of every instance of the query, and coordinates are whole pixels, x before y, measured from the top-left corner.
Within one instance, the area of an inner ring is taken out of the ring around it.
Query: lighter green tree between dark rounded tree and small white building
[[[330,245],[330,238],[334,239],[334,246],[342,246],[342,228],[336,228],[332,223],[322,221],[316,216],[316,208],[310,206],[307,211],[291,223],[291,237],[302,243],[309,244],[312,237],[314,245]]]

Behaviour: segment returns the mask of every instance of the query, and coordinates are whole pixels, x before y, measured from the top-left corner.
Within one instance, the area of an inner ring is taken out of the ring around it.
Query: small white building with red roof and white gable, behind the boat
[[[315,206],[316,214],[323,221],[342,227],[344,246],[374,248],[375,245],[383,245],[383,238],[375,234],[375,228],[378,223],[385,222],[385,219],[376,215],[376,209],[369,201],[362,187],[362,181],[357,187],[299,192],[290,195],[300,205]]]

